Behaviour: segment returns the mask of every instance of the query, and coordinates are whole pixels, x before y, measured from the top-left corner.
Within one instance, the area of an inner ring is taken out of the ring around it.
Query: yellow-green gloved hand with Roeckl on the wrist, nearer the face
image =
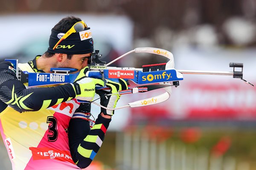
[[[104,81],[86,77],[85,73],[87,71],[88,67],[83,68],[72,85],[76,93],[76,99],[92,101],[95,95],[95,85],[104,86]]]

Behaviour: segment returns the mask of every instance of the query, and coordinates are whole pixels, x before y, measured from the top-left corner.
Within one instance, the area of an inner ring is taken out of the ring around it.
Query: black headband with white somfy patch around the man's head
[[[90,28],[86,28],[84,31],[70,34],[53,50],[55,44],[64,34],[65,33],[52,30],[52,34],[49,38],[49,48],[47,52],[63,54],[87,54],[93,52],[93,38],[91,37]]]

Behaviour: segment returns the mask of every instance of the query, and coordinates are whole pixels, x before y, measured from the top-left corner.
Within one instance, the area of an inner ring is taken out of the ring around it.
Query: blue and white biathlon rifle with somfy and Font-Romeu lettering
[[[127,56],[131,53],[151,53],[157,54],[169,59],[166,63],[143,65],[143,68],[130,68],[130,67],[109,67],[113,62]],[[233,76],[233,78],[239,78],[244,82],[254,86],[250,82],[243,79],[243,63],[230,62],[229,66],[233,68],[233,71],[192,71],[192,70],[176,70],[174,68],[174,58],[171,52],[160,49],[160,48],[135,48],[122,56],[114,59],[113,61],[106,64],[106,62],[101,61],[99,58],[99,50],[96,50],[91,57],[91,65],[89,65],[89,71],[87,71],[86,76],[96,79],[110,79],[111,81],[118,82],[119,78],[125,79],[125,81],[132,81],[139,85],[135,88],[129,88],[128,90],[119,91],[122,94],[135,94],[135,93],[145,93],[148,91],[156,90],[159,88],[165,89],[165,93],[158,96],[154,96],[148,99],[138,100],[135,102],[128,103],[128,105],[119,108],[105,108],[96,102],[92,102],[100,107],[108,110],[116,110],[126,107],[140,107],[146,105],[153,105],[160,102],[164,102],[169,99],[172,93],[172,86],[179,86],[181,80],[183,80],[183,74],[208,74],[208,75],[226,75]],[[17,78],[25,83],[28,82],[29,87],[41,86],[41,85],[58,85],[63,83],[73,82],[77,75],[70,74],[73,71],[77,71],[73,68],[51,68],[54,73],[28,73],[23,72],[17,67],[17,59],[6,59],[6,61],[12,62],[16,68]],[[235,68],[240,68],[241,71],[235,71]],[[106,89],[107,87],[96,87],[96,89]],[[145,103],[144,101],[152,101]],[[82,102],[82,101],[80,101]]]

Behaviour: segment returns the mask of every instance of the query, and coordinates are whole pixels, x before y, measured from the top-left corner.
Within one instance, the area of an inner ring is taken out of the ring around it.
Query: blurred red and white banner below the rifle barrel
[[[154,119],[256,119],[256,89],[239,81],[189,82],[172,88],[167,101],[146,107],[132,108],[132,113],[140,118]],[[157,96],[164,91],[154,91]],[[138,100],[136,96],[131,100]]]

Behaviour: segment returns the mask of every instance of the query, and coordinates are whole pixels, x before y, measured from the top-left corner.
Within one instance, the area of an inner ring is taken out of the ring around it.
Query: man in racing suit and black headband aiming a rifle
[[[52,28],[47,52],[18,67],[36,73],[76,68],[80,73],[73,83],[27,88],[17,80],[11,63],[0,63],[0,131],[13,169],[73,170],[85,168],[93,160],[113,111],[102,108],[90,130],[90,105],[77,99],[92,101],[95,86],[106,85],[110,92],[96,91],[102,96],[100,103],[115,108],[117,92],[127,89],[127,84],[122,79],[105,84],[85,77],[92,52],[90,28],[80,18],[66,17]],[[105,94],[112,95],[106,98]]]

